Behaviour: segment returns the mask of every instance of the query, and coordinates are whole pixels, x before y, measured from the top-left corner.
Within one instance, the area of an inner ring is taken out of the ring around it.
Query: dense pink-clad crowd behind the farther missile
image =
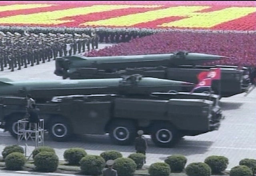
[[[140,55],[171,53],[179,50],[229,57],[208,64],[256,66],[256,35],[247,33],[163,32],[132,39],[87,56]]]

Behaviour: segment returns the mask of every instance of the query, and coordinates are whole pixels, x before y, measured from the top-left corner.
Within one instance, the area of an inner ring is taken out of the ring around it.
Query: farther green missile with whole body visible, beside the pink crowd
[[[126,69],[135,67],[170,67],[174,65],[198,65],[208,61],[224,59],[220,55],[204,53],[176,53],[149,54],[149,55],[120,55],[104,57],[85,57],[82,55],[66,56],[56,59],[54,73],[63,76],[65,71],[73,73],[77,68],[96,68],[103,70]]]

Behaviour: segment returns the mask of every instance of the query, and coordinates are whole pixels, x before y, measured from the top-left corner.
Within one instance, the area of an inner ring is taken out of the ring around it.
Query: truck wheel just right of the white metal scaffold
[[[61,142],[70,138],[72,130],[70,125],[63,118],[52,118],[48,126],[48,132],[52,140]]]

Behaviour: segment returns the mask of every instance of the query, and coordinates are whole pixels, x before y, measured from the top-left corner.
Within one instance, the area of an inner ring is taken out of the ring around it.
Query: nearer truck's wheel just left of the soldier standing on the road
[[[114,121],[109,128],[109,136],[114,144],[129,145],[136,137],[136,127],[131,121]]]

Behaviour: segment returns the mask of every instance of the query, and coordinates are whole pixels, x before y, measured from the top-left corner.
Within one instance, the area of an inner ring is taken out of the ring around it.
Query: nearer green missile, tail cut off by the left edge
[[[0,79],[1,80],[1,79]],[[190,91],[193,83],[172,81],[141,75],[113,79],[66,79],[46,81],[0,81],[0,96],[25,96],[27,93],[38,101],[54,96],[115,93],[119,95],[149,95],[152,92]]]

